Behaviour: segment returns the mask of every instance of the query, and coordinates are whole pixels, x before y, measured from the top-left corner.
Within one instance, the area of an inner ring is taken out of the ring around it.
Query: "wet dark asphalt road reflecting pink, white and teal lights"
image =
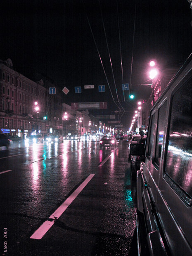
[[[135,256],[135,191],[127,141],[0,148],[0,255]]]

